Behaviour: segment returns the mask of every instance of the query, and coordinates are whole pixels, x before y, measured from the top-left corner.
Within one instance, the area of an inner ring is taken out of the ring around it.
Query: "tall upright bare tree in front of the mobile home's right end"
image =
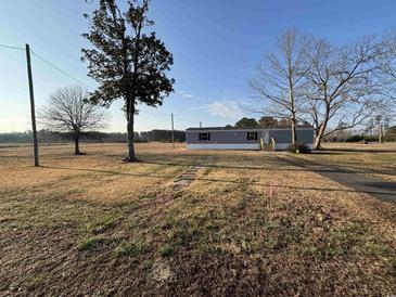
[[[292,143],[297,141],[296,126],[303,109],[303,92],[310,65],[307,53],[311,38],[295,28],[286,30],[273,51],[267,52],[251,81],[253,91],[267,104],[267,113],[289,119]]]

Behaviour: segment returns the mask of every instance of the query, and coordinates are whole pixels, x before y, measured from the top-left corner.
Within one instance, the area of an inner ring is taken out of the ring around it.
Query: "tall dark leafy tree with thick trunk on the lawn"
[[[157,106],[174,91],[174,79],[166,76],[173,55],[155,33],[146,33],[154,23],[148,20],[149,0],[128,1],[122,12],[115,0],[100,0],[90,18],[90,31],[82,36],[93,46],[82,49],[88,75],[99,82],[90,102],[110,106],[124,100],[127,118],[128,152],[126,162],[136,160],[135,115],[139,103]],[[86,15],[86,17],[88,17]]]

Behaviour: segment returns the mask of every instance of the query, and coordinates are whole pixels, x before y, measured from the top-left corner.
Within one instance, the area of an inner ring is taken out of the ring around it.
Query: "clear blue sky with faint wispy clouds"
[[[98,2],[98,1],[97,1]],[[1,0],[0,43],[31,49],[92,87],[80,62],[81,16],[97,2],[84,0]],[[288,27],[296,26],[333,42],[396,26],[394,0],[152,0],[154,29],[173,52],[175,93],[159,108],[142,107],[138,131],[233,124],[250,109],[248,79],[263,52]],[[33,57],[36,105],[56,88],[75,81]],[[122,102],[110,108],[107,131],[125,131]],[[40,127],[39,127],[40,128]],[[25,53],[0,48],[0,132],[30,129]]]

